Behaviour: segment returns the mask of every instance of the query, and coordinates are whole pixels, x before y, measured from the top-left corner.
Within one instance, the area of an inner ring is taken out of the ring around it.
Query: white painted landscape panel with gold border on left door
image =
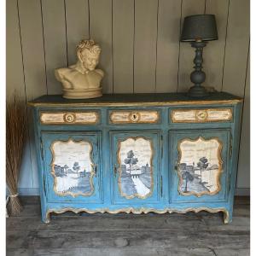
[[[52,144],[52,175],[58,195],[90,195],[93,191],[90,143],[57,141]]]

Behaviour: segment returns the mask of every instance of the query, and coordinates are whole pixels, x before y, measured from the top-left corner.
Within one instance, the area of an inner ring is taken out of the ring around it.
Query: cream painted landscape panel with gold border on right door
[[[185,139],[179,144],[178,190],[183,195],[216,194],[222,172],[221,143],[215,139]]]

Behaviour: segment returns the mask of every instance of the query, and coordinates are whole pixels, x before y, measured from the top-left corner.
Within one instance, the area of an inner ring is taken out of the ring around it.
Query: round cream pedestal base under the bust
[[[63,89],[63,98],[90,99],[102,96],[102,87],[90,89]]]

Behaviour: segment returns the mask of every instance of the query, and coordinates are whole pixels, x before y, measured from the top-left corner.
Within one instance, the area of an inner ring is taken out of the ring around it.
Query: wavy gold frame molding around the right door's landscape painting
[[[215,189],[212,192],[207,192],[207,191],[203,191],[201,193],[196,193],[195,191],[189,191],[189,192],[183,192],[181,190],[181,187],[183,185],[183,177],[181,175],[181,172],[179,171],[179,163],[182,159],[182,150],[181,150],[181,143],[185,142],[185,141],[189,141],[189,142],[196,142],[198,140],[201,140],[203,142],[208,142],[211,140],[216,140],[218,142],[218,174],[216,175],[216,184],[217,184],[217,189]],[[222,165],[223,165],[223,161],[221,159],[221,152],[222,152],[222,148],[223,148],[223,143],[218,139],[218,137],[211,137],[209,139],[205,139],[204,137],[197,137],[194,140],[190,139],[190,138],[184,138],[183,140],[181,140],[178,144],[177,144],[177,151],[178,151],[178,161],[177,161],[177,176],[179,177],[179,183],[178,183],[178,193],[180,195],[195,195],[197,197],[201,197],[201,195],[216,195],[220,190],[221,190],[221,184],[220,184],[220,176],[221,173],[223,172],[222,169]]]

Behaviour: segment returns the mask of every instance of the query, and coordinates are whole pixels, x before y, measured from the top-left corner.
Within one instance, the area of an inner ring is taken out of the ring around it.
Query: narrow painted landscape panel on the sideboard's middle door
[[[127,199],[146,198],[153,190],[151,141],[129,137],[119,142],[119,190]]]

